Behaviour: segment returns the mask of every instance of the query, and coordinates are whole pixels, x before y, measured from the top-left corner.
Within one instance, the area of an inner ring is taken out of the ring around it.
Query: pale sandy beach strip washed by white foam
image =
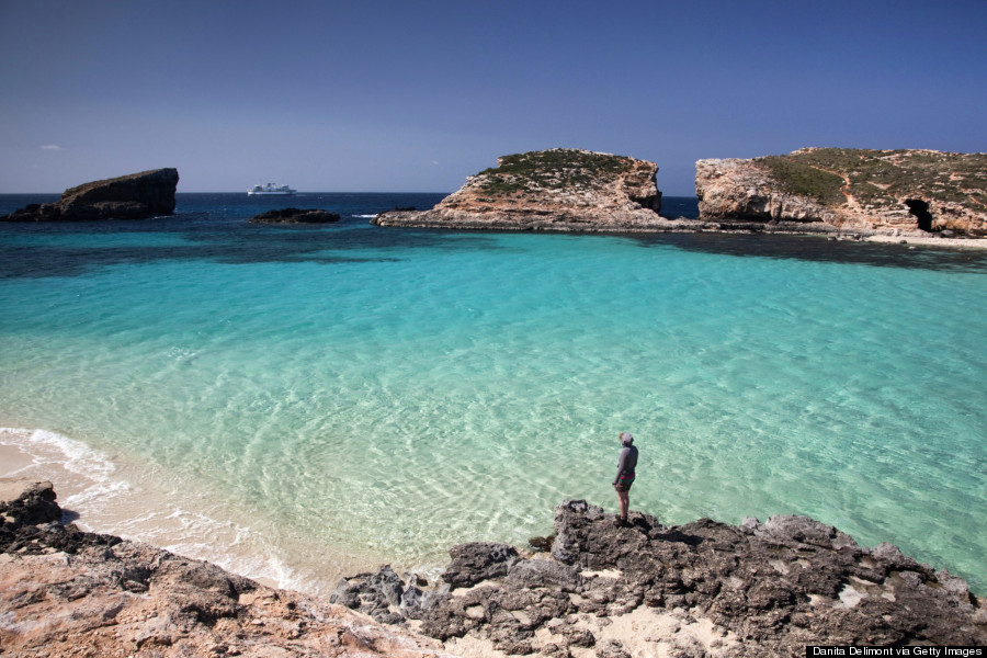
[[[331,546],[296,544],[298,554],[285,555],[271,529],[237,521],[263,525],[227,501],[167,486],[162,474],[47,430],[0,428],[0,477],[53,481],[64,521],[83,530],[205,559],[272,587],[328,595],[342,574],[376,566]]]

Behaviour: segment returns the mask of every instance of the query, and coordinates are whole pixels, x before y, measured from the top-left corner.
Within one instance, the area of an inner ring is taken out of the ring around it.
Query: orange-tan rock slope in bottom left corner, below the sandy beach
[[[54,499],[47,483],[0,481],[4,656],[447,656],[343,606],[63,525]]]

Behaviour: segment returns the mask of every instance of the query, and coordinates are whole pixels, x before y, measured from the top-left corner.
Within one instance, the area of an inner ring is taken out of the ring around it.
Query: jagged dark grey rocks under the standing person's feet
[[[440,588],[422,591],[385,568],[343,579],[333,600],[509,654],[660,655],[661,645],[669,655],[760,657],[804,656],[807,644],[987,643],[987,601],[962,579],[805,517],[666,527],[632,513],[622,527],[585,501],[555,512],[551,558],[465,544]]]

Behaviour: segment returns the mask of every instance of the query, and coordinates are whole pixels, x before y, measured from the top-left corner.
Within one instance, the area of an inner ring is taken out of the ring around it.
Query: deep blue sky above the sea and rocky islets
[[[987,1],[0,0],[0,193],[451,192],[498,156],[987,151]]]

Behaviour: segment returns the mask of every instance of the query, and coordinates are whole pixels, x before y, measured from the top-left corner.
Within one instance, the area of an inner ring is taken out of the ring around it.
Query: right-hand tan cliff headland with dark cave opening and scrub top
[[[696,162],[699,219],[987,236],[987,154],[806,148]]]

